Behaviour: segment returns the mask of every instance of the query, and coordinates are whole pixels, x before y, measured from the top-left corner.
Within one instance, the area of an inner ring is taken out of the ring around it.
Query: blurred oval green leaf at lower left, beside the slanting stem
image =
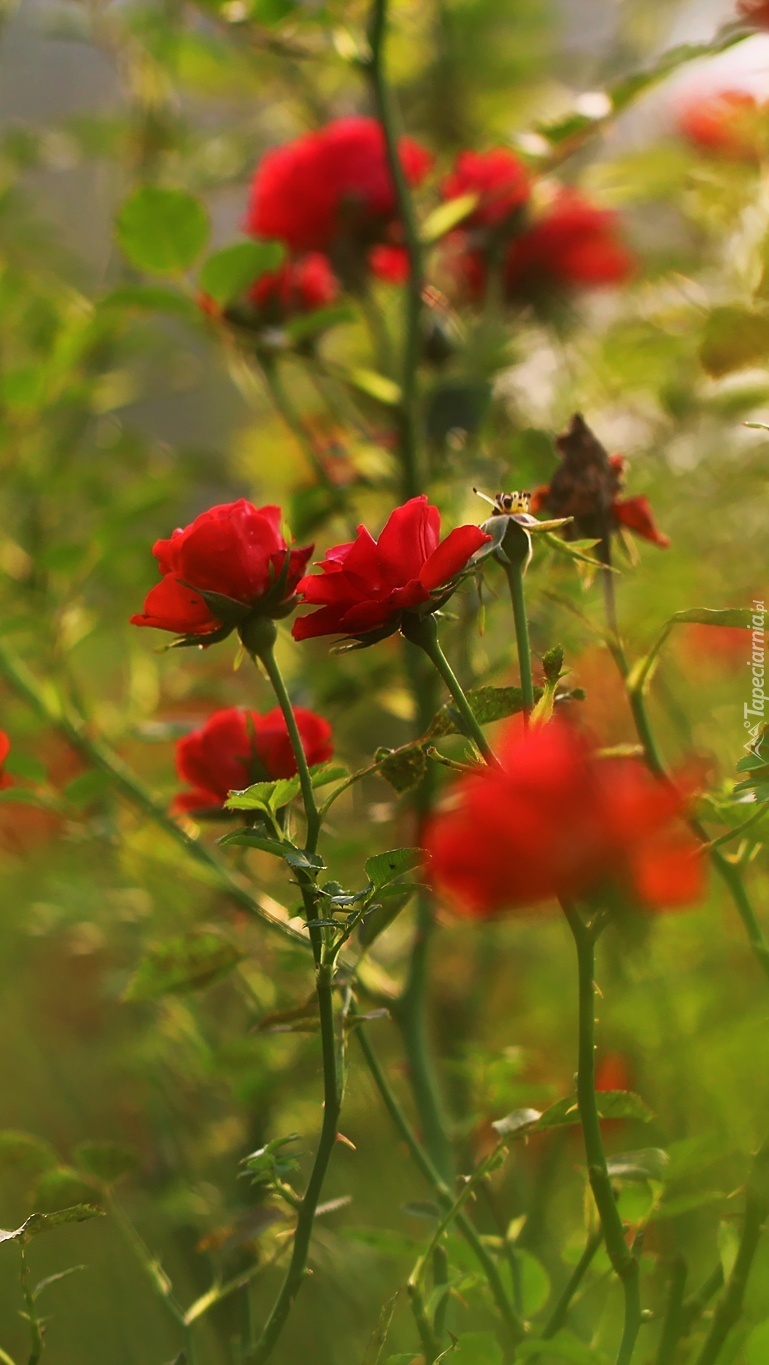
[[[156,1001],[210,986],[238,962],[243,953],[210,930],[167,939],[152,949],[131,977],[123,999]]]

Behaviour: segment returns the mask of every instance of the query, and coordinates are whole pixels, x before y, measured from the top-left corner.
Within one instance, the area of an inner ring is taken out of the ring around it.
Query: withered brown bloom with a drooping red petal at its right
[[[623,498],[627,461],[608,455],[585,419],[576,412],[568,430],[556,437],[561,457],[550,483],[534,489],[531,511],[574,517],[564,527],[570,538],[606,539],[620,526],[665,549],[671,541],[657,530],[643,497]]]

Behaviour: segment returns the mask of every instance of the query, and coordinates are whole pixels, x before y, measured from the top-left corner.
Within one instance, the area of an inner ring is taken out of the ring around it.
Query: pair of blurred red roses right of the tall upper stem
[[[444,199],[477,195],[477,205],[451,235],[449,270],[471,299],[486,292],[499,262],[511,303],[553,292],[624,283],[634,258],[619,235],[619,218],[574,190],[556,190],[535,206],[529,172],[512,152],[462,153],[444,180]]]

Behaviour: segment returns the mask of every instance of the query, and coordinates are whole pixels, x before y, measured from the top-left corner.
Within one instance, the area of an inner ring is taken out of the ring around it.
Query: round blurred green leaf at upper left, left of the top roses
[[[158,274],[188,270],[208,236],[208,213],[186,190],[142,186],[117,214],[117,242],[139,270]]]

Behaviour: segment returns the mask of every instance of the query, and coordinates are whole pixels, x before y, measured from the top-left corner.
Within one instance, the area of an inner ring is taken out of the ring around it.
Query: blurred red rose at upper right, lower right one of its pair
[[[471,298],[486,289],[488,262],[464,238],[453,269]],[[511,303],[570,289],[623,284],[634,258],[619,239],[619,217],[598,209],[574,190],[561,190],[542,216],[515,236],[503,262],[503,285]]]

